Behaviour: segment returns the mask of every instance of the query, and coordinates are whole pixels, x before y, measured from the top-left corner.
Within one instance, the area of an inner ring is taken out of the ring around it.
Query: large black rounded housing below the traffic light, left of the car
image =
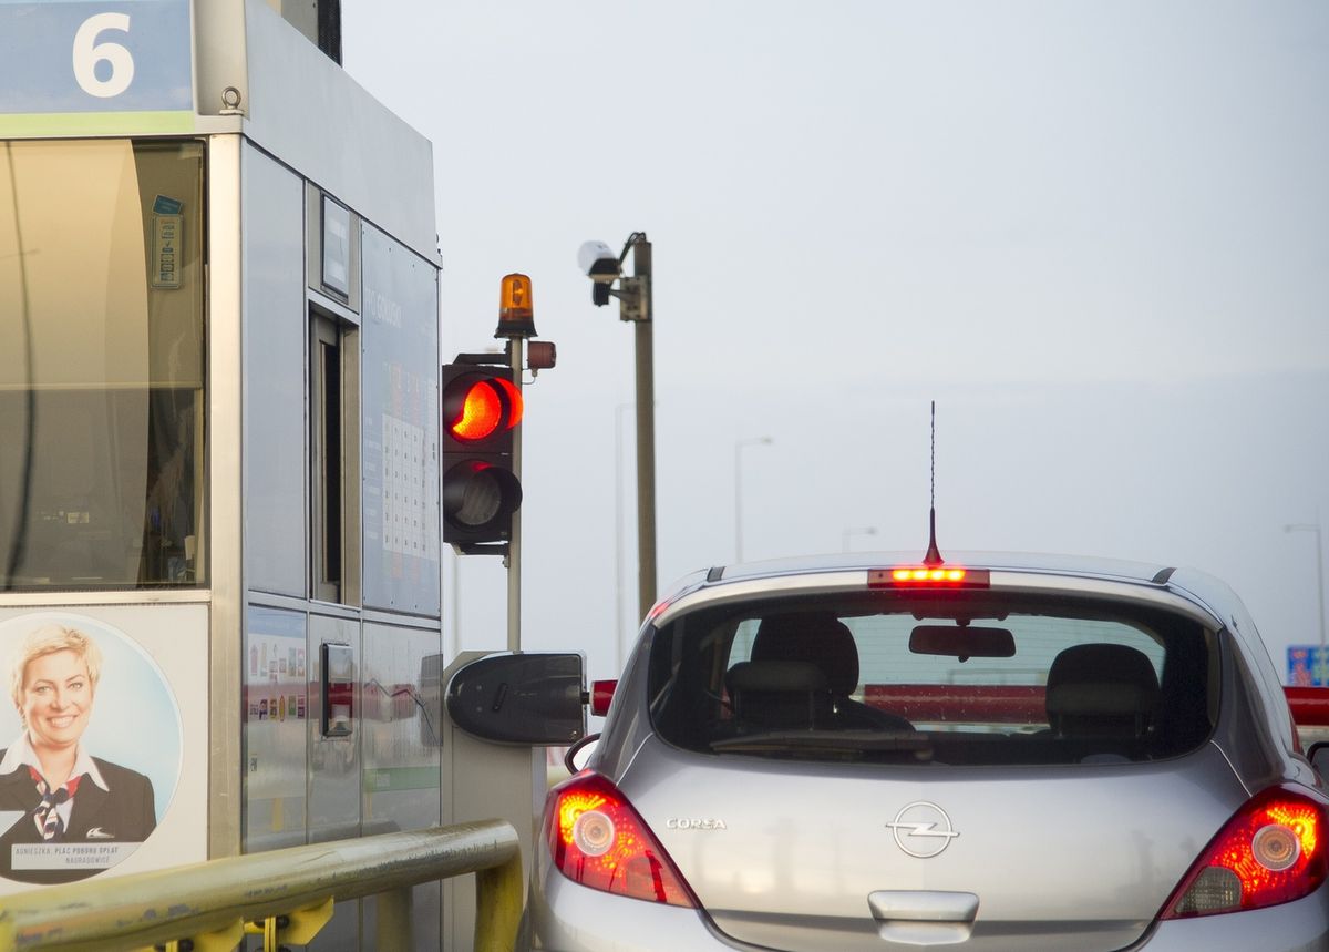
[[[493,743],[560,747],[586,734],[579,654],[488,654],[448,682],[448,717]]]

